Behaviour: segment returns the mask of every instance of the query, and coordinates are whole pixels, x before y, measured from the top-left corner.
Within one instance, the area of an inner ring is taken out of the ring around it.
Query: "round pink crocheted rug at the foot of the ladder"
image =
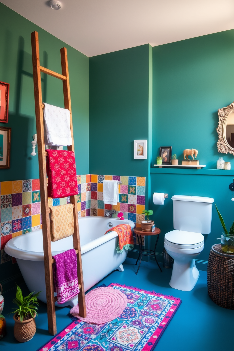
[[[85,295],[87,317],[79,316],[78,305],[70,313],[83,322],[104,324],[118,317],[127,306],[127,296],[118,289],[98,287]]]

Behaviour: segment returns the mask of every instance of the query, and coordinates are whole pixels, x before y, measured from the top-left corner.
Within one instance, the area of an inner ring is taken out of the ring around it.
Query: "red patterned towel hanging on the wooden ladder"
[[[48,197],[52,199],[78,194],[75,155],[73,151],[46,150]]]

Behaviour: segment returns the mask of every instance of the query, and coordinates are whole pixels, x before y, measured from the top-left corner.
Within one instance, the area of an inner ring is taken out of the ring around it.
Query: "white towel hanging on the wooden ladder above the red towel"
[[[69,110],[43,104],[45,145],[72,145]]]

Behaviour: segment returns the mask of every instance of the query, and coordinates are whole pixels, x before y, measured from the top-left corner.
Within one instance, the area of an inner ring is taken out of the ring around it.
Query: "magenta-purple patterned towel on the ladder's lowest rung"
[[[74,249],[53,256],[54,292],[57,293],[58,304],[75,297],[79,293],[77,279],[77,261]]]

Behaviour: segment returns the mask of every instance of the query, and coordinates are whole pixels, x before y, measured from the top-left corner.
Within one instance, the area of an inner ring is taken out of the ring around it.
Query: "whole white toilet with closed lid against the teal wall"
[[[174,289],[190,291],[199,278],[195,265],[204,247],[203,234],[211,230],[213,198],[201,196],[174,195],[174,229],[165,234],[164,247],[174,259],[170,286]]]

